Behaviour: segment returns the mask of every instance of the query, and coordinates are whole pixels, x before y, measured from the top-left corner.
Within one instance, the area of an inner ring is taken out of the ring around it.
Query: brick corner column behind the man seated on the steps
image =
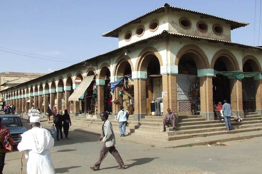
[[[170,108],[171,111],[178,116],[177,114],[177,89],[176,89],[176,75],[174,74],[165,74],[162,75],[163,81],[163,106],[164,113],[167,111],[167,108]],[[178,117],[176,118],[178,119]]]

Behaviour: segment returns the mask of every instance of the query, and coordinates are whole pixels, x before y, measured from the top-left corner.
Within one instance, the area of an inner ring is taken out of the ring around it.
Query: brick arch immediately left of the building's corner
[[[160,66],[163,66],[162,57],[159,51],[153,47],[147,47],[143,49],[137,57],[135,71],[147,71],[148,60],[145,60],[147,55],[155,55],[158,58]],[[132,70],[133,71],[133,70]]]

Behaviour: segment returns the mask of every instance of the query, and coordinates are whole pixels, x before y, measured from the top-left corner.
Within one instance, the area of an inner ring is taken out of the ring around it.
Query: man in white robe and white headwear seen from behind
[[[54,139],[49,131],[40,127],[38,116],[30,117],[31,130],[22,134],[22,141],[17,149],[24,151],[27,162],[27,174],[55,174],[49,149],[54,146]]]

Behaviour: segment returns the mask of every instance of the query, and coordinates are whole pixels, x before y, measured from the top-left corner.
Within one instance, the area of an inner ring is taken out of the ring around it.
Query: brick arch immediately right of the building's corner
[[[206,57],[205,53],[203,52],[202,49],[200,49],[196,45],[185,45],[184,47],[182,47],[176,54],[175,65],[178,66],[178,62],[179,62],[180,58],[183,55],[185,55],[186,53],[193,54],[191,56],[195,61],[195,65],[196,65],[197,69],[210,68],[208,58]]]

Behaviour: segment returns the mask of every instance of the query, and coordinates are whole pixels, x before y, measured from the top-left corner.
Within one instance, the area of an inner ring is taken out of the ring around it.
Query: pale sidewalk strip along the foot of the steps
[[[52,118],[52,117],[51,117]],[[24,118],[24,119],[27,119]],[[47,118],[41,118],[41,125],[43,127],[52,126],[52,122],[47,123]],[[101,121],[102,126],[102,121]],[[101,129],[95,129],[85,126],[78,126],[75,124],[72,124],[70,126],[71,131],[79,131],[94,135],[101,135]],[[119,134],[116,134],[116,140],[123,140],[127,142],[132,143],[138,143],[138,144],[144,144],[152,147],[161,147],[161,148],[178,148],[178,147],[190,147],[190,146],[196,146],[196,145],[207,145],[207,144],[215,144],[217,142],[224,143],[228,141],[234,141],[234,140],[243,140],[243,139],[250,139],[255,137],[261,137],[262,131],[251,131],[251,132],[244,132],[244,133],[235,133],[232,134],[230,131],[227,134],[224,135],[215,135],[215,136],[206,136],[206,137],[195,137],[190,139],[183,139],[183,140],[174,140],[174,141],[163,141],[163,140],[157,140],[157,139],[150,139],[145,138],[142,136],[136,136],[136,135],[126,135],[125,137],[120,137]]]

